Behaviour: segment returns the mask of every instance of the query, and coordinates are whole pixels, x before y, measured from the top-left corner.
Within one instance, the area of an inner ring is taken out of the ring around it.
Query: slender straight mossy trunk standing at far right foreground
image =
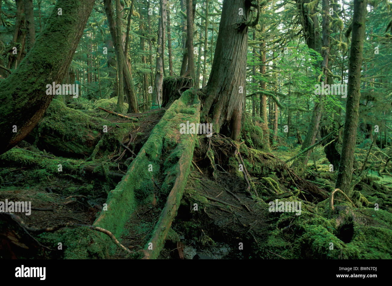
[[[341,189],[347,194],[350,190],[352,178],[352,165],[354,162],[358,127],[363,38],[365,38],[365,18],[367,13],[366,5],[366,0],[354,0],[351,48],[348,61],[346,121],[344,125],[338,179],[336,179],[336,188]]]

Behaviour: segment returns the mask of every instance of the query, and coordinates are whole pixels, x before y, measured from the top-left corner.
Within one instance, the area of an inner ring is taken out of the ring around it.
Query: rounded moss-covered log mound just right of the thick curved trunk
[[[31,135],[41,150],[56,156],[84,158],[95,156],[103,145],[117,145],[118,140],[134,130],[136,119],[132,123],[113,123],[96,116],[94,111],[75,110],[54,99]]]

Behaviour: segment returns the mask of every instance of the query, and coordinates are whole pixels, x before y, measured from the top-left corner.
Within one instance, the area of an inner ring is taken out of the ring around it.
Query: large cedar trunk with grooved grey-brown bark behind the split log
[[[245,108],[248,26],[258,21],[248,20],[251,5],[248,0],[223,1],[214,62],[204,89],[203,115],[212,116],[214,131],[232,139],[240,135]]]

